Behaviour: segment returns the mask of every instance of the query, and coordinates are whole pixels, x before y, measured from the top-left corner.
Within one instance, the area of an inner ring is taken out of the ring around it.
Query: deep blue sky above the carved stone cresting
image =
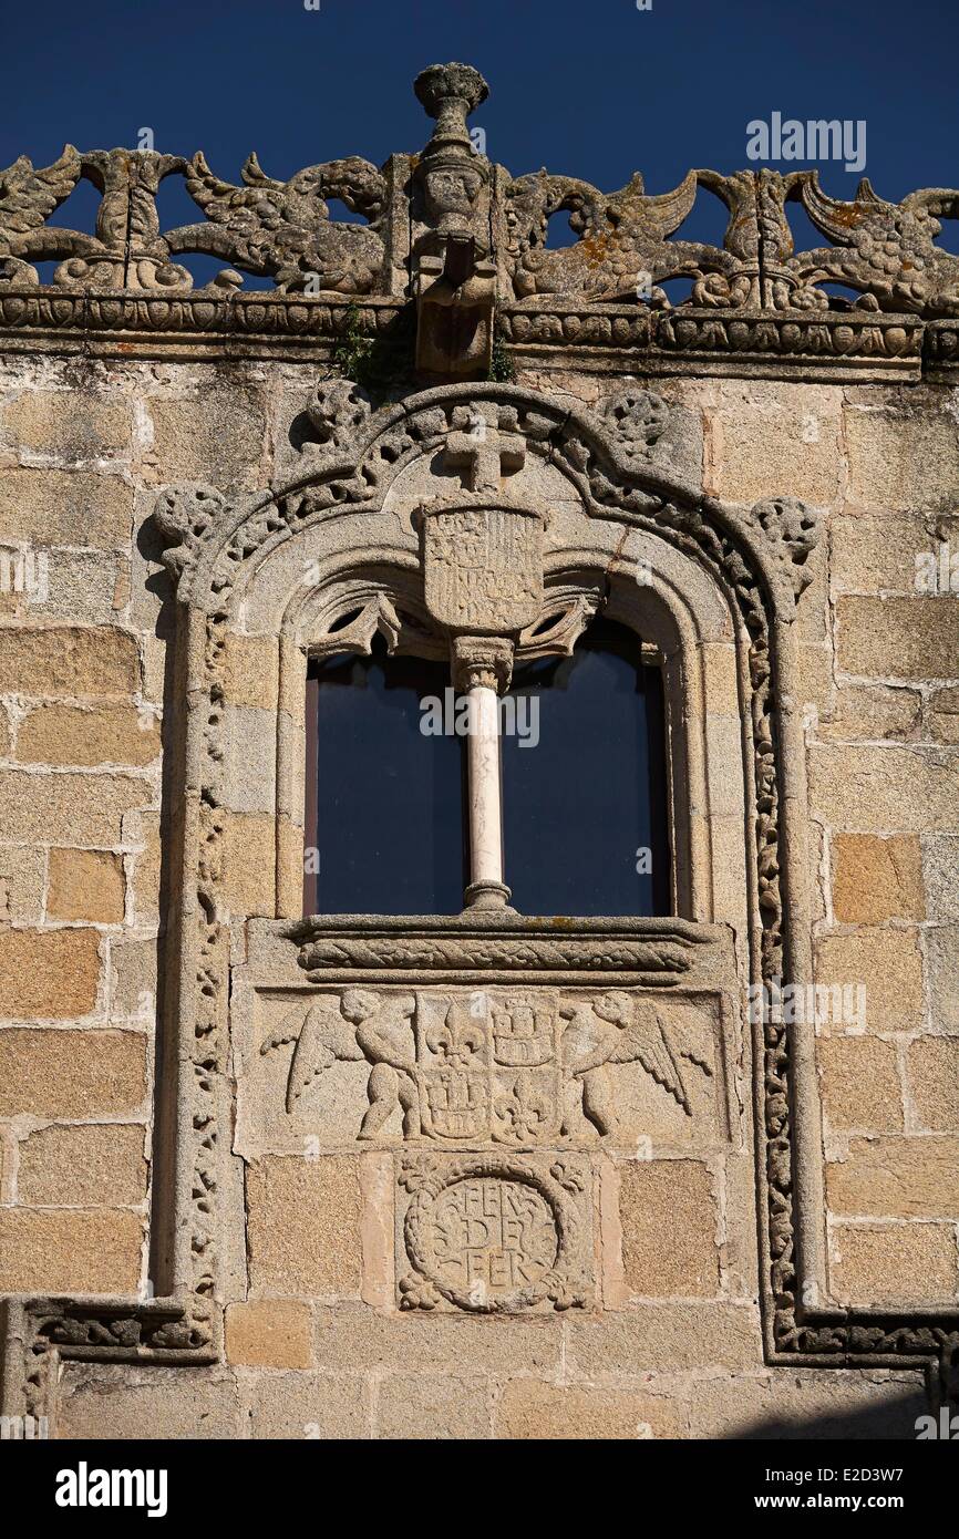
[[[279,177],[346,154],[380,163],[425,142],[417,71],[462,58],[490,80],[476,117],[486,152],[517,174],[546,165],[614,189],[640,169],[656,192],[690,166],[747,166],[747,123],[779,111],[865,119],[865,172],[899,199],[959,183],[957,43],[956,0],[653,0],[650,12],[634,0],[45,0],[3,23],[0,165],[20,152],[45,165],[65,142],[132,148],[143,126],[157,149],[205,149],[228,180],[254,148]],[[857,175],[830,165],[822,180],[848,197]],[[716,232],[723,222],[717,211]]]

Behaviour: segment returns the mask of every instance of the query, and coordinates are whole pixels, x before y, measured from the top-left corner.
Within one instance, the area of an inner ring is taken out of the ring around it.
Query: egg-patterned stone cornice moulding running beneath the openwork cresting
[[[276,292],[6,289],[0,351],[326,363],[353,305],[363,329],[385,340],[406,303]],[[499,328],[508,354],[526,368],[856,383],[959,379],[959,320],[877,311],[650,311],[525,300],[499,311]]]

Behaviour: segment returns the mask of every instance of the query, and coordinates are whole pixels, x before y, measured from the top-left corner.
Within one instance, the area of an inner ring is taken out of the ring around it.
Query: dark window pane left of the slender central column
[[[311,662],[305,913],[462,910],[463,739],[420,731],[423,699],[448,688],[445,663],[388,657],[379,636],[369,657]]]

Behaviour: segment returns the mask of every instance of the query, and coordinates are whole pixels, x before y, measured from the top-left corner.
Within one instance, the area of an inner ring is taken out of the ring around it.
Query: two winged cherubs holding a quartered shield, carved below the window
[[[651,1000],[625,990],[599,997],[520,994],[377,994],[348,988],[299,1003],[263,1042],[294,1043],[286,1111],[305,1110],[322,1076],[366,1063],[368,1107],[360,1139],[402,1137],[528,1145],[577,1139],[590,1125],[622,1133],[616,1070],[636,1063],[687,1116],[691,1076],[711,1063]]]

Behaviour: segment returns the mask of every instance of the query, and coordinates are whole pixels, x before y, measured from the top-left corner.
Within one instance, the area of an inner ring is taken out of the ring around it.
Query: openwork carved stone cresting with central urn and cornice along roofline
[[[690,171],[670,192],[634,172],[602,192],[539,171],[514,177],[469,140],[486,98],[466,65],[434,65],[416,83],[436,120],[419,155],[377,169],[357,155],[319,162],[286,182],[251,154],[240,183],[197,151],[66,146],[35,168],[22,155],[0,174],[0,342],[29,346],[49,331],[216,354],[240,332],[251,348],[329,352],[360,303],[359,326],[389,339],[399,312],[419,309],[417,363],[426,374],[483,377],[494,311],[503,345],[523,354],[574,349],[593,368],[642,356],[660,372],[748,372],[757,360],[830,377],[916,377],[959,359],[959,259],[936,245],[959,192],[924,188],[902,203],[862,180],[856,199],[830,197],[816,171]],[[202,219],[160,228],[160,183],[180,177]],[[100,192],[95,232],[55,222],[79,182]],[[720,246],[683,240],[702,197],[728,211]],[[334,220],[329,199],[357,215]],[[830,242],[794,251],[787,205]],[[546,246],[553,215],[577,240]],[[191,254],[226,266],[195,289]],[[37,263],[58,263],[51,285]],[[245,292],[243,274],[271,279]],[[685,279],[674,302],[663,285]],[[827,292],[842,285],[850,299]],[[605,363],[603,363],[605,357]]]

